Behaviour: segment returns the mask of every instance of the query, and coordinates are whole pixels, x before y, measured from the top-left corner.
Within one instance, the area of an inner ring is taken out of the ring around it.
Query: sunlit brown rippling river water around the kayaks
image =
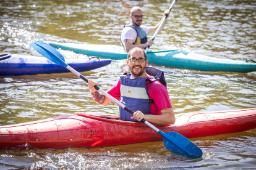
[[[34,41],[119,45],[129,10],[140,6],[145,25],[156,25],[171,1],[0,1],[0,52],[40,57]],[[221,59],[254,59],[256,2],[177,1],[152,49],[179,48]],[[70,51],[66,58],[85,58]],[[153,65],[164,70],[176,114],[256,107],[256,72],[202,72]],[[126,70],[124,60],[82,73],[109,89]],[[114,103],[96,104],[72,73],[0,77],[0,125],[64,113],[117,116]],[[190,139],[202,148],[197,160],[166,150],[163,142],[100,148],[0,151],[0,169],[256,169],[256,129]]]

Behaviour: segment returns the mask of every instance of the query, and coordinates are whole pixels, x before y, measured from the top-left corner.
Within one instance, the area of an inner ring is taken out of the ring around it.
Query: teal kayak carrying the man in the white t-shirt
[[[127,52],[124,48],[116,45],[79,44],[69,42],[50,42],[49,45],[56,49],[69,50],[77,54],[96,56],[113,60],[127,59]],[[247,73],[256,71],[254,60],[230,60],[208,57],[179,49],[164,51],[148,51],[148,63],[157,65],[187,68],[200,71],[231,71]]]

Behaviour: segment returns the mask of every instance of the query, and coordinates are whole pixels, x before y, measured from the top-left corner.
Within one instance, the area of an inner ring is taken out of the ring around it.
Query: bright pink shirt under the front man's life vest
[[[147,78],[153,78],[153,76],[149,76]],[[160,83],[160,81],[146,81],[146,88],[148,91],[148,97],[150,99],[153,99],[155,103],[150,103],[151,115],[161,115],[161,110],[164,108],[170,108],[173,107],[171,105],[169,94],[166,89],[166,87],[163,86],[163,84]],[[115,99],[120,99],[120,92],[121,89],[121,80],[117,81],[117,83],[111,87],[107,92],[108,94],[112,95]],[[137,110],[133,110],[137,111]]]

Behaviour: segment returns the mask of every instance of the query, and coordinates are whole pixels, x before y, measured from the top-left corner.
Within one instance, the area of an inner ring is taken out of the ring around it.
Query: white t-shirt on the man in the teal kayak
[[[140,25],[140,28],[142,28],[146,33],[148,33],[149,31],[148,26]],[[127,26],[126,28],[124,28],[124,30],[122,30],[122,34],[121,34],[122,44],[124,44],[124,39],[133,39],[133,41],[135,42],[136,38],[137,38],[137,32],[135,28]]]

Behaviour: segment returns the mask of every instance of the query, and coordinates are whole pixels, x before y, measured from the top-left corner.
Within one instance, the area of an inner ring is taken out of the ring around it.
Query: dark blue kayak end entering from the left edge
[[[111,59],[66,59],[66,63],[75,70],[90,71],[111,63]],[[51,62],[45,57],[33,57],[17,54],[0,54],[0,76],[37,75],[49,73],[67,73],[67,68]]]

